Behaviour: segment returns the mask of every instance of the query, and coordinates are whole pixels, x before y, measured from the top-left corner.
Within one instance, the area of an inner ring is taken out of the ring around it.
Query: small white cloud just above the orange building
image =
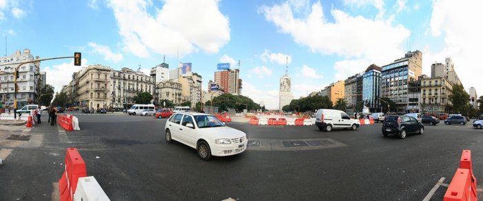
[[[337,61],[334,65],[335,79],[347,79],[357,73],[361,73],[369,66],[370,61],[364,59]]]

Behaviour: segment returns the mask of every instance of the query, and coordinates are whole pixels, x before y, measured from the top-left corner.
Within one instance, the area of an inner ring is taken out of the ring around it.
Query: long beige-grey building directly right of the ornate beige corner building
[[[133,98],[141,92],[155,94],[154,78],[141,71],[130,68],[110,70],[110,86],[108,91],[108,107],[124,108],[135,104]],[[154,99],[153,99],[154,100]]]

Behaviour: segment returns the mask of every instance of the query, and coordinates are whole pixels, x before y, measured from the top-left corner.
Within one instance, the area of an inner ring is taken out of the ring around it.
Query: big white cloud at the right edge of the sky
[[[434,1],[431,15],[431,34],[444,39],[441,50],[432,50],[426,47],[423,52],[423,66],[429,73],[431,63],[438,61],[444,63],[445,57],[451,57],[455,70],[462,84],[468,90],[474,86],[478,93],[483,93],[480,82],[481,75],[475,73],[480,69],[481,47],[483,46],[483,30],[475,28],[483,19],[483,1]],[[428,75],[428,74],[427,74]]]

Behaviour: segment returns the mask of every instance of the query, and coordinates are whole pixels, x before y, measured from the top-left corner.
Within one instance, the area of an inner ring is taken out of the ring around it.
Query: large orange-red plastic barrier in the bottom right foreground
[[[460,159],[460,168],[456,170],[448,190],[444,193],[443,200],[477,200],[477,183],[472,166],[471,151],[463,150]]]

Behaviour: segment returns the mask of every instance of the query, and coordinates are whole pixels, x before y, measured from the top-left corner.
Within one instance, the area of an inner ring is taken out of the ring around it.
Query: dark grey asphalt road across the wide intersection
[[[45,116],[32,129],[0,128],[0,150],[11,152],[0,167],[0,200],[51,200],[67,147],[79,149],[88,175],[111,200],[423,200],[440,178],[451,182],[463,149],[472,151],[478,182],[483,178],[483,130],[469,124],[425,126],[424,135],[400,140],[383,137],[381,124],[327,133],[227,123],[262,143],[206,162],[195,149],[165,142],[166,119],[77,117],[81,131],[75,132],[45,124]],[[5,139],[13,133],[31,138]],[[445,191],[440,186],[432,200]]]

